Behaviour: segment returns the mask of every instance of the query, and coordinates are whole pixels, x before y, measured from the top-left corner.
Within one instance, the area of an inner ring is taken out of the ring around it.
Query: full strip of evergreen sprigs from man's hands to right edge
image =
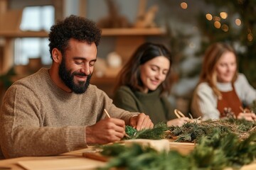
[[[171,139],[176,138],[176,142],[198,142],[198,139],[206,136],[212,137],[215,132],[223,136],[233,132],[238,137],[247,137],[248,133],[253,132],[256,122],[250,122],[245,119],[228,118],[223,120],[208,120],[201,123],[185,123],[183,126],[167,127],[166,123],[159,123],[152,129],[137,131],[130,126],[126,126],[126,133],[130,137],[124,137],[124,140],[130,139]]]

